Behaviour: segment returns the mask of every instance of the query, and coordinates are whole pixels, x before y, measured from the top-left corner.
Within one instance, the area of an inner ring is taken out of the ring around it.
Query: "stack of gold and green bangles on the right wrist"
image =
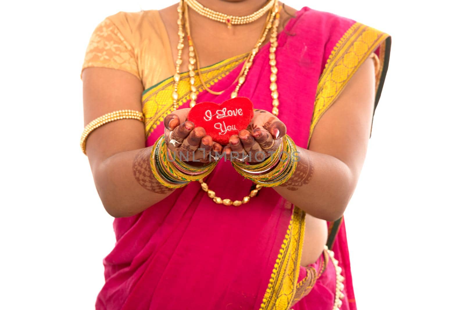
[[[278,150],[258,165],[233,162],[234,169],[245,178],[263,187],[285,183],[297,167],[297,147],[289,136],[283,137],[282,151]],[[276,156],[278,154],[278,156]]]

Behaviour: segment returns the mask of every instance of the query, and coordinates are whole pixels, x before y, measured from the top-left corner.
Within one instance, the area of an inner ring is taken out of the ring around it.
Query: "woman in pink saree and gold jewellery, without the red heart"
[[[96,309],[356,309],[343,213],[390,42],[275,0],[106,17],[81,74],[81,147],[115,217]],[[255,110],[223,145],[187,119],[234,97]],[[273,182],[245,172],[284,148]]]

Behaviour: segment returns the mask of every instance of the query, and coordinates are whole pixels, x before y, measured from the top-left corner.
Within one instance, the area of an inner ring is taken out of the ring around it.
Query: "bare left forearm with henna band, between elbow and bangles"
[[[117,153],[93,169],[97,192],[110,215],[132,216],[173,192],[153,176],[150,168],[151,149]]]

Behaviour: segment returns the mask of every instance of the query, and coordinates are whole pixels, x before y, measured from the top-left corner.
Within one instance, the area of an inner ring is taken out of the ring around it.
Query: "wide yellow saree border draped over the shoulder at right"
[[[354,23],[339,39],[318,81],[308,146],[310,146],[310,139],[321,116],[336,101],[365,59],[379,47],[380,68],[376,75],[376,108],[387,70],[390,43],[389,34],[359,22]]]

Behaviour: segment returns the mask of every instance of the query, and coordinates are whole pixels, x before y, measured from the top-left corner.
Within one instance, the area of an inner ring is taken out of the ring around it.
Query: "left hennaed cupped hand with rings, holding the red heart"
[[[179,109],[165,117],[166,145],[182,161],[212,161],[210,155],[221,154],[223,147],[213,142],[205,129],[195,127],[193,122],[186,120],[189,110]]]

